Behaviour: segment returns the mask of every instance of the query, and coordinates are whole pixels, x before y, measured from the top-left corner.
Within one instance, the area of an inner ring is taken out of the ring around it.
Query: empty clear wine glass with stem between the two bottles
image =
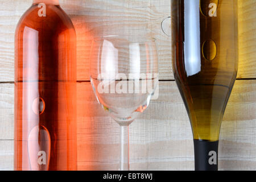
[[[121,171],[129,170],[129,125],[158,90],[155,39],[109,35],[93,40],[90,82],[98,103],[121,129]]]

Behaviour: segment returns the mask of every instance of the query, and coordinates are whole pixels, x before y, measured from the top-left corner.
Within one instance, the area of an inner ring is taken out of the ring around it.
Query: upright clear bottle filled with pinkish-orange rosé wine
[[[16,27],[14,169],[77,170],[76,32],[58,0]]]

